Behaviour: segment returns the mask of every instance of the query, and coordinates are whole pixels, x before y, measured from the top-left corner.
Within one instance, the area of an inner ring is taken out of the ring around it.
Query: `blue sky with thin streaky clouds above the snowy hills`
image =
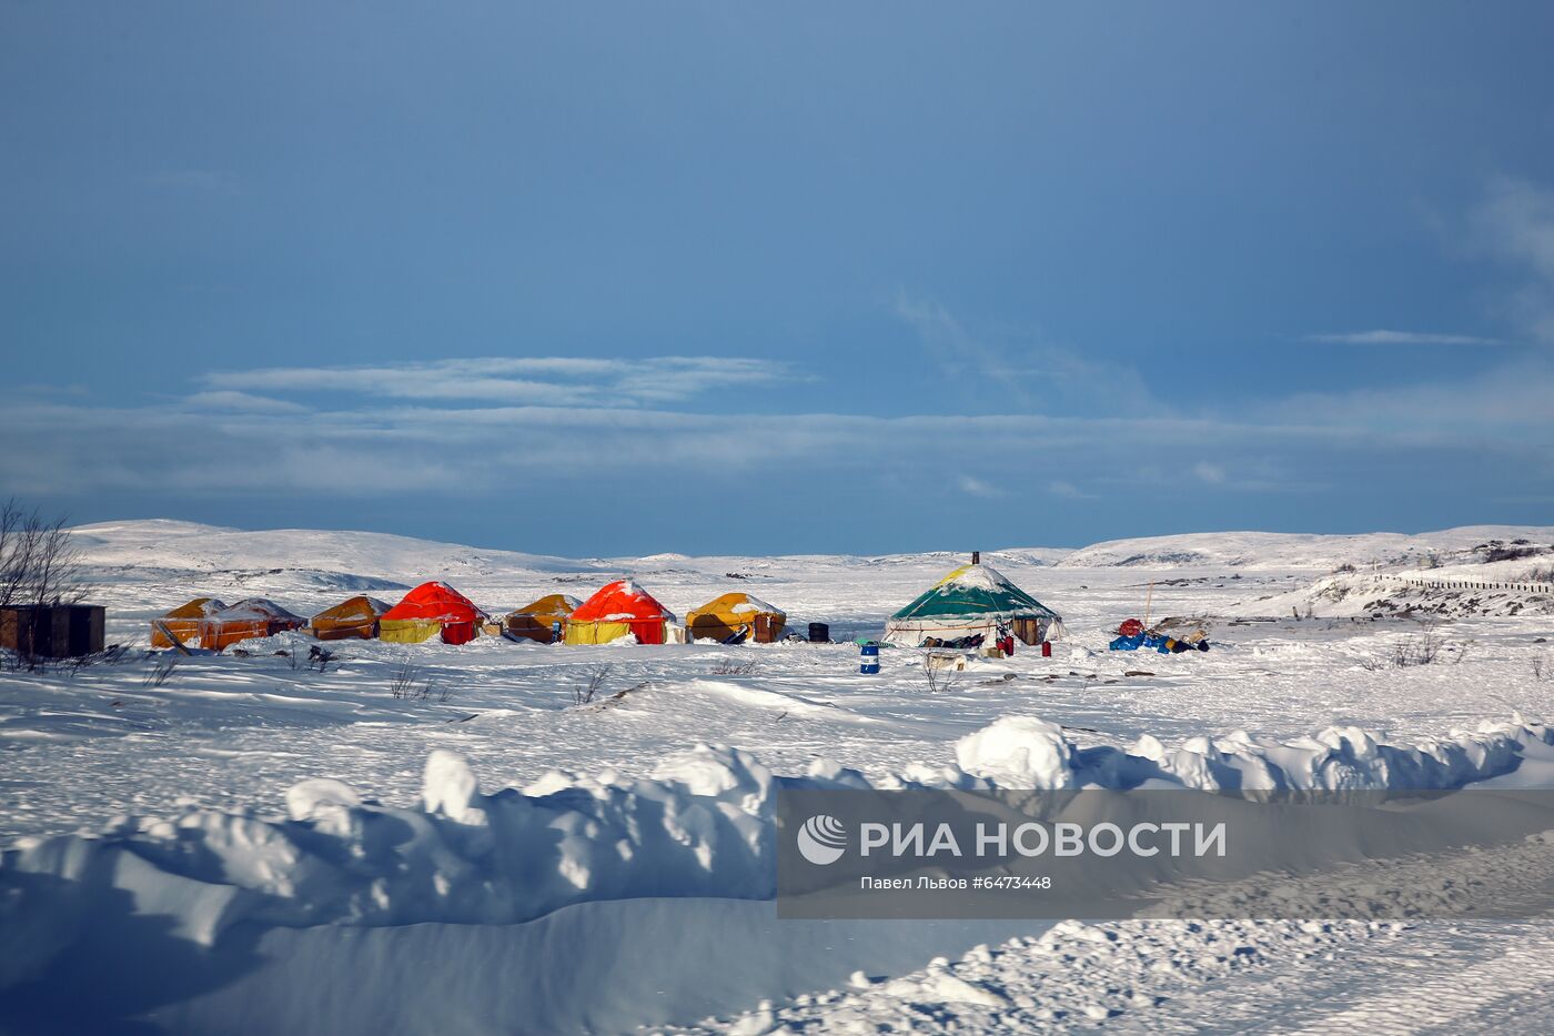
[[[1549,39],[0,2],[0,495],[573,555],[1549,523]]]

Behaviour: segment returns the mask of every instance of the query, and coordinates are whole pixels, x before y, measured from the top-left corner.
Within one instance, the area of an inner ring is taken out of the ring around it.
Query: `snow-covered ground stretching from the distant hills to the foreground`
[[[1528,944],[1517,926],[779,922],[769,798],[791,779],[1019,786],[990,748],[1009,731],[1049,762],[1108,748],[1200,787],[1270,753],[1299,758],[1280,779],[1305,786],[1343,768],[1358,786],[1554,787],[1537,726],[1554,717],[1554,594],[1436,607],[1451,591],[1405,582],[1537,576],[1554,529],[984,552],[1063,614],[1068,639],[1052,658],[977,661],[940,694],[915,652],[886,650],[881,675],[859,677],[852,644],[347,641],[323,672],[289,635],[246,656],[138,649],[152,616],[193,596],[312,614],[441,579],[499,614],[623,576],[678,614],[744,590],[789,628],[822,621],[850,639],[963,554],[569,560],[172,521],[78,540],[109,641],[137,650],[0,672],[14,846],[0,924],[20,933],[0,950],[0,1028],[1246,1030],[1285,1027],[1301,983],[1327,989],[1332,1010],[1305,1019],[1321,1025],[1340,1005],[1374,1022],[1409,982],[1504,974],[1478,1000],[1458,994],[1461,1031],[1503,1028],[1543,996],[1497,955]],[[1529,554],[1487,562],[1497,551]],[[1366,607],[1372,590],[1402,604]],[[1106,652],[1145,607],[1204,625],[1214,650]],[[1392,664],[1423,638],[1431,664]]]

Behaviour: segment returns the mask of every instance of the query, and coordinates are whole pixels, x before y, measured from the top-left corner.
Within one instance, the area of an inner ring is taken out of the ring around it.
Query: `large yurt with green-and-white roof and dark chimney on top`
[[[917,600],[886,622],[884,642],[920,647],[926,641],[959,641],[984,636],[988,644],[999,627],[1026,644],[1063,636],[1063,619],[987,565],[967,565],[949,572]]]

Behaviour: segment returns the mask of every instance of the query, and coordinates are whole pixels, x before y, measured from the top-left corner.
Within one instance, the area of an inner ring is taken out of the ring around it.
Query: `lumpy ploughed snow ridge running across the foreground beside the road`
[[[873,784],[824,761],[779,778],[749,753],[698,745],[645,779],[550,772],[494,795],[480,792],[463,756],[437,750],[420,809],[315,778],[287,790],[287,818],[188,810],[19,842],[0,860],[0,885],[12,890],[0,924],[28,938],[0,952],[0,988],[39,974],[124,893],[205,946],[239,921],[502,924],[592,899],[769,899],[780,786],[1451,789],[1509,773],[1546,745],[1554,733],[1518,719],[1419,745],[1329,728],[1291,742],[1234,733],[1175,748],[1150,736],[1128,750],[1078,748],[1061,726],[1005,717],[963,737],[956,765],[914,765]]]

